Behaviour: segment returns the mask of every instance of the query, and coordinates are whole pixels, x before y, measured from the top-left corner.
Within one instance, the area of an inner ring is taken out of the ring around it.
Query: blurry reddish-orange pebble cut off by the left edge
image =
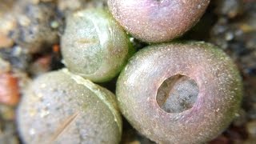
[[[10,73],[0,74],[0,103],[15,106],[19,98],[18,78]]]

